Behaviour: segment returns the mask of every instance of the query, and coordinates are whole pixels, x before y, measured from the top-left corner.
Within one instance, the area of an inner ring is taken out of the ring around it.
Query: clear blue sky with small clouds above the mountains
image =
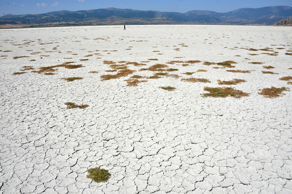
[[[292,0],[0,0],[0,16],[6,14],[36,14],[59,10],[91,10],[100,8],[129,8],[138,10],[172,11],[190,10],[228,12],[239,8],[291,6]]]

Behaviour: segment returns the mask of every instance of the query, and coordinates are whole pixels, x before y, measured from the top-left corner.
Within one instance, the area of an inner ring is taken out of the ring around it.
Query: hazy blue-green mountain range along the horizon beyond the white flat
[[[80,24],[240,24],[271,25],[292,17],[292,7],[241,8],[227,13],[192,10],[186,13],[105,8],[54,11],[43,14],[4,15],[1,24],[80,25]]]

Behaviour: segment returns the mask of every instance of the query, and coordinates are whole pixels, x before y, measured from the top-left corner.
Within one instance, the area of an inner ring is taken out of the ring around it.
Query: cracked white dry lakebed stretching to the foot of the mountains
[[[292,192],[291,80],[280,80],[292,76],[291,27],[6,29],[0,50],[0,193]],[[223,61],[237,63],[216,64]],[[82,67],[56,66],[65,62]],[[168,67],[148,69],[155,64]],[[56,67],[39,72],[47,66]],[[102,80],[123,69],[135,72]],[[161,78],[149,79],[155,73]],[[127,86],[134,75],[145,82]],[[68,77],[83,79],[61,79]],[[217,82],[232,79],[246,82]],[[248,94],[204,97],[204,87]],[[258,94],[271,87],[287,91]],[[67,109],[66,102],[89,106]],[[111,178],[87,179],[92,167]]]

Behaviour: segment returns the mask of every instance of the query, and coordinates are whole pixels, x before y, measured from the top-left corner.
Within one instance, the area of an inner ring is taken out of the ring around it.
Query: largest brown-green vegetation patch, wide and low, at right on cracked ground
[[[204,91],[208,91],[209,93],[201,94],[203,97],[225,98],[230,96],[233,98],[241,98],[243,96],[249,96],[248,93],[231,87],[204,87]]]

